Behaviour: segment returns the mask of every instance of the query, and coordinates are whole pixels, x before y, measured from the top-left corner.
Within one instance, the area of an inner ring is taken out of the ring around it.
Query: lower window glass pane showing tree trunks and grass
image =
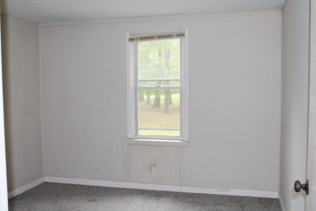
[[[180,136],[180,89],[138,89],[138,135]]]

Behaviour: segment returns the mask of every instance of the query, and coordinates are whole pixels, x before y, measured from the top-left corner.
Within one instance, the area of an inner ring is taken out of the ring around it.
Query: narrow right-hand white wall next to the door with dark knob
[[[295,180],[306,179],[309,5],[309,0],[286,0],[282,10],[280,196],[286,211],[305,206],[304,193],[295,193],[293,187]]]

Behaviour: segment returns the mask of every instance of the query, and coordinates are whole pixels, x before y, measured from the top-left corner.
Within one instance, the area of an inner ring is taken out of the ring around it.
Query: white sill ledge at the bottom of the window
[[[189,141],[180,140],[155,140],[155,139],[127,139],[129,145],[146,145],[146,146],[175,146],[188,147]]]

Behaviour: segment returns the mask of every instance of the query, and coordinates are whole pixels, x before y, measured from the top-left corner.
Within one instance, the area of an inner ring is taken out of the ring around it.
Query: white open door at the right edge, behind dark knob
[[[316,211],[316,0],[311,0],[310,24],[310,93],[307,152],[309,194],[306,197],[306,211]]]

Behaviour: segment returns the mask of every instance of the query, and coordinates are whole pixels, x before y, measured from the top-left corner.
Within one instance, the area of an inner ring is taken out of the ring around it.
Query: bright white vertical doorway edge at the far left
[[[1,42],[0,42],[0,49],[1,49]],[[8,210],[8,191],[7,191],[7,183],[6,183],[3,92],[2,92],[2,64],[1,64],[1,50],[0,50],[0,211],[7,211],[7,210]]]

